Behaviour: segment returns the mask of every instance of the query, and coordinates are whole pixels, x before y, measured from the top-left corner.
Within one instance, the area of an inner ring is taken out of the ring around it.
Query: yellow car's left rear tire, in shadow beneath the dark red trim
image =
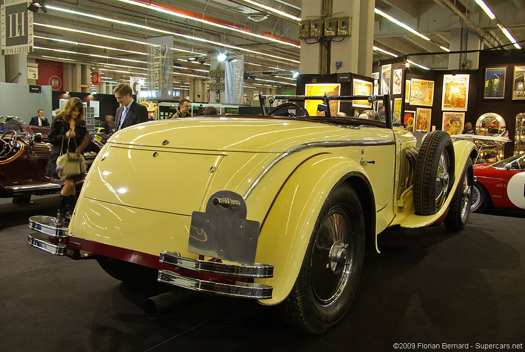
[[[117,280],[128,284],[152,284],[157,282],[158,270],[109,257],[99,257],[102,269]]]

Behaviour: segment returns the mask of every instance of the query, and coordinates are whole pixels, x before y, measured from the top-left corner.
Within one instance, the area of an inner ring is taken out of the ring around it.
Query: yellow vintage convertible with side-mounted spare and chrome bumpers
[[[145,122],[119,131],[93,163],[67,229],[34,216],[28,243],[97,258],[122,281],[279,305],[318,334],[350,306],[365,242],[387,227],[465,226],[469,141],[433,131],[416,148],[393,126],[389,96],[274,96],[266,116]],[[309,116],[319,100],[325,116]],[[382,100],[384,121],[331,116],[330,101]],[[266,111],[266,110],[263,110]]]

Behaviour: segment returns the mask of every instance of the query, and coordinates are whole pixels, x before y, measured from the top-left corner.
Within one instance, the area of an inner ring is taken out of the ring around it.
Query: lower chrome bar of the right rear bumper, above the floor
[[[213,293],[229,297],[269,299],[272,287],[264,284],[236,282],[224,284],[178,275],[169,270],[160,270],[157,278],[159,282],[184,287],[199,292]]]

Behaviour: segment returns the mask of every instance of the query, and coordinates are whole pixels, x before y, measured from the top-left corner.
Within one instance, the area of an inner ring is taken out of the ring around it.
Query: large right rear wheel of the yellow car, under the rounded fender
[[[293,329],[320,334],[346,313],[361,275],[364,234],[358,195],[349,185],[341,184],[324,202],[297,281],[280,305],[283,317]],[[348,246],[343,254],[336,255],[344,244]],[[330,254],[339,260],[331,261]]]

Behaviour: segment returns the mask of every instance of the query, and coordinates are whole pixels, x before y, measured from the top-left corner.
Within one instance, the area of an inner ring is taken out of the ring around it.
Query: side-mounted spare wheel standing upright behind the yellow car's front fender
[[[454,183],[454,147],[447,132],[428,133],[414,170],[414,211],[433,215],[443,206]]]

